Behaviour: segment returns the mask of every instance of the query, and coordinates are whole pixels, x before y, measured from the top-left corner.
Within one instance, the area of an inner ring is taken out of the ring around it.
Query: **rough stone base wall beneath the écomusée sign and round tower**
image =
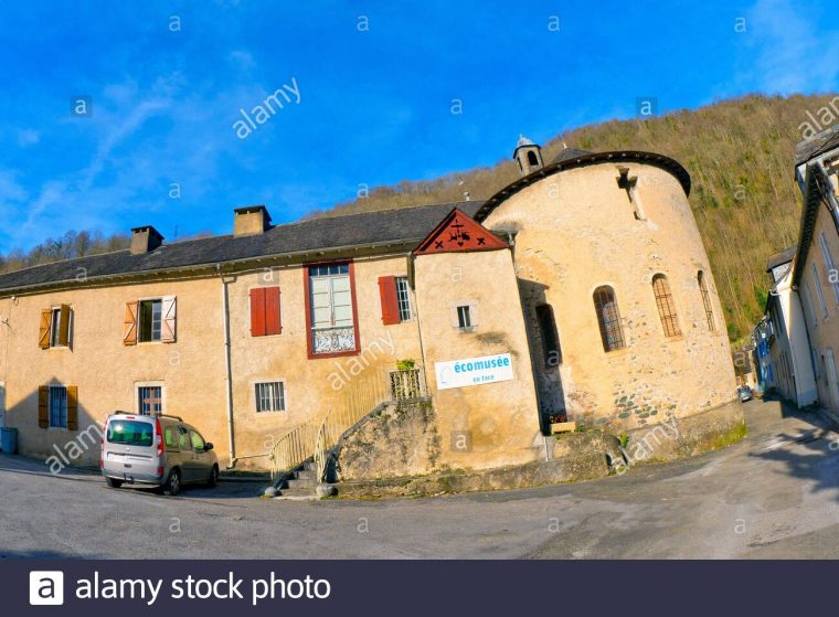
[[[509,490],[594,480],[637,462],[695,456],[740,440],[739,400],[691,416],[615,436],[584,430],[548,437],[551,460],[492,469],[440,468],[440,439],[431,402],[392,405],[342,439],[337,455],[340,497],[420,497]]]

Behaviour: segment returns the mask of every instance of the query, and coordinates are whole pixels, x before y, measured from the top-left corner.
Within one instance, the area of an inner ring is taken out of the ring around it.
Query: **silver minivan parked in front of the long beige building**
[[[177,416],[116,412],[105,423],[99,459],[111,488],[152,485],[178,494],[183,485],[219,481],[213,445]]]

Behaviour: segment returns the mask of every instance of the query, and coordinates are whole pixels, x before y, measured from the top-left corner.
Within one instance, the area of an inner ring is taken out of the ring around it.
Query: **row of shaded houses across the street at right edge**
[[[773,286],[754,337],[768,348],[771,387],[799,407],[839,413],[839,127],[796,146],[795,178],[798,244],[769,258]]]

